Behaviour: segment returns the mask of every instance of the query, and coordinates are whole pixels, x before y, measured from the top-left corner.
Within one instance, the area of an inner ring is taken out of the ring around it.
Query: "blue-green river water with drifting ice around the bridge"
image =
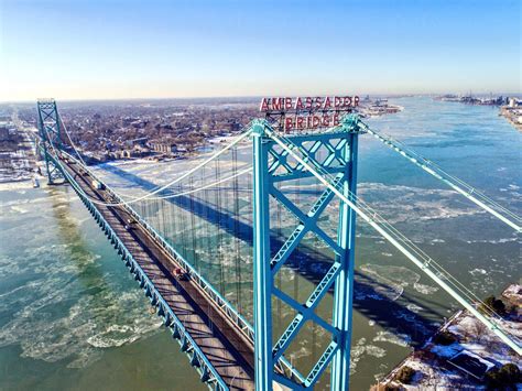
[[[497,109],[428,98],[393,102],[404,111],[370,124],[522,214],[522,137]],[[248,150],[240,151],[239,160],[246,160]],[[360,140],[359,158],[359,194],[474,293],[500,292],[520,280],[520,241],[507,226],[369,135]],[[116,186],[129,187],[121,170],[130,178],[161,184],[186,164],[132,163],[98,171]],[[0,389],[205,389],[70,188],[2,185],[0,210]],[[457,306],[370,228],[358,228],[351,381],[352,389],[363,390]],[[203,225],[199,233],[216,236]],[[227,246],[233,243],[225,240],[220,251]],[[191,257],[219,285],[215,264],[196,250],[187,252]],[[248,262],[246,254],[241,292],[250,292]],[[232,269],[220,272],[233,275]],[[300,296],[312,289],[291,271],[279,283]],[[219,289],[235,302],[233,286]],[[331,297],[325,300],[318,313],[327,316]],[[251,298],[241,306],[250,316]],[[275,311],[274,328],[281,329],[291,314]],[[300,368],[323,348],[320,330],[314,330],[316,337],[305,332],[309,336],[292,347],[291,359]]]

